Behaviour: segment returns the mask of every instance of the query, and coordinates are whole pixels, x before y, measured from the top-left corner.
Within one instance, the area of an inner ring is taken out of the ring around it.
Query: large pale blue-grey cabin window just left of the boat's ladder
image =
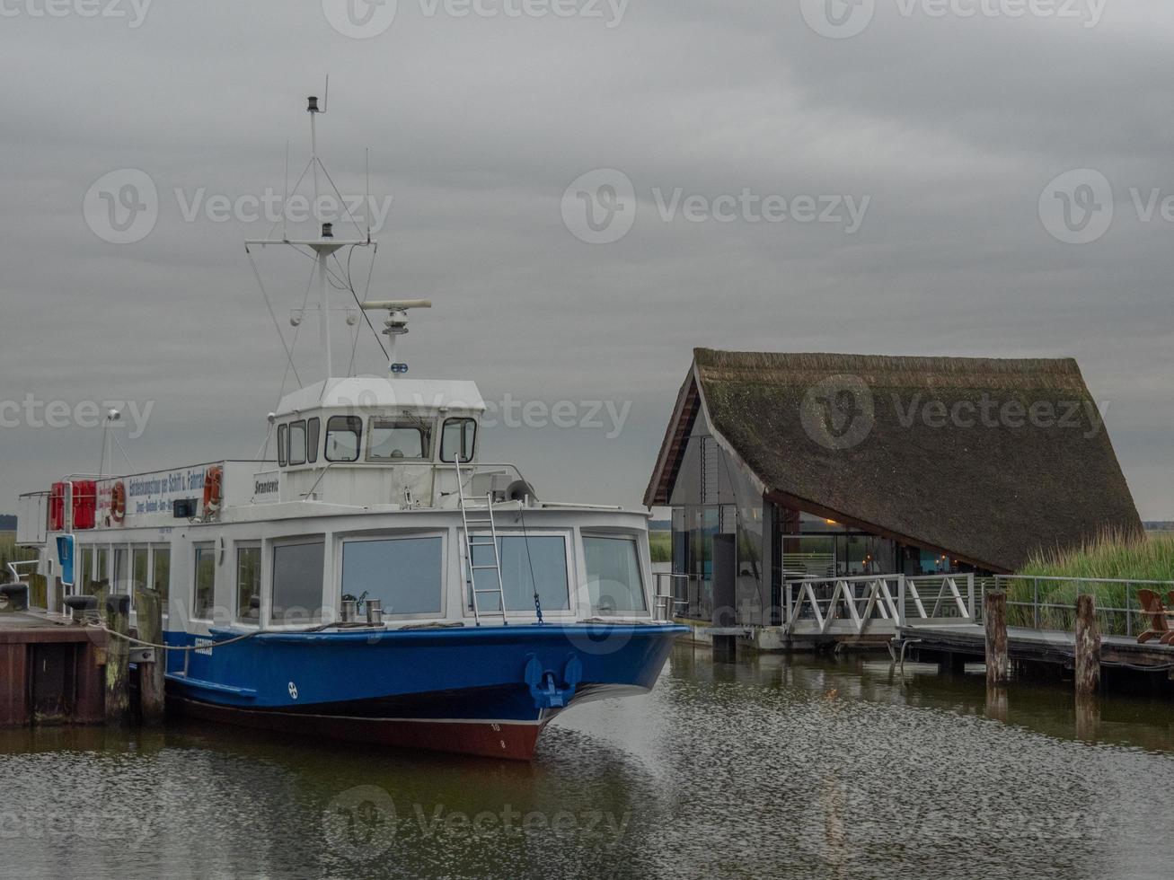
[[[385,615],[439,615],[444,548],[437,537],[348,541],[343,595],[377,598]]]

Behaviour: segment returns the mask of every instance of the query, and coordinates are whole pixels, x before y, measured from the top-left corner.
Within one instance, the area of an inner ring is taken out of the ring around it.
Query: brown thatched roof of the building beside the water
[[[697,348],[648,505],[700,407],[775,500],[994,571],[1141,530],[1077,363]],[[686,424],[688,422],[688,424]]]

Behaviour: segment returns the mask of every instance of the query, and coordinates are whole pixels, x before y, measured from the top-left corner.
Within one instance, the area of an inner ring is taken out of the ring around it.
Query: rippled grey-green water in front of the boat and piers
[[[0,878],[1169,878],[1174,710],[1071,703],[681,645],[653,695],[564,716],[532,765],[2,731]]]

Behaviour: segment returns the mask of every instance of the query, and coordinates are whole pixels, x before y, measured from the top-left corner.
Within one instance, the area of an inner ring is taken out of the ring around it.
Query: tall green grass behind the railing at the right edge
[[[1092,594],[1097,600],[1105,634],[1136,634],[1147,627],[1143,616],[1139,614],[1138,590],[1153,590],[1167,602],[1166,594],[1174,590],[1174,535],[1138,537],[1106,533],[1078,548],[1039,554],[1019,574],[1031,580],[1011,581],[1007,600],[1041,605],[1039,620],[1035,620],[1037,611],[1033,608],[1011,605],[1007,609],[1007,623],[1019,627],[1033,627],[1038,623],[1044,629],[1071,630],[1075,625],[1075,614],[1071,607],[1075,605],[1077,596]],[[1054,580],[1058,577],[1106,578],[1124,583],[1074,583]],[[1138,583],[1140,581],[1166,583]]]

